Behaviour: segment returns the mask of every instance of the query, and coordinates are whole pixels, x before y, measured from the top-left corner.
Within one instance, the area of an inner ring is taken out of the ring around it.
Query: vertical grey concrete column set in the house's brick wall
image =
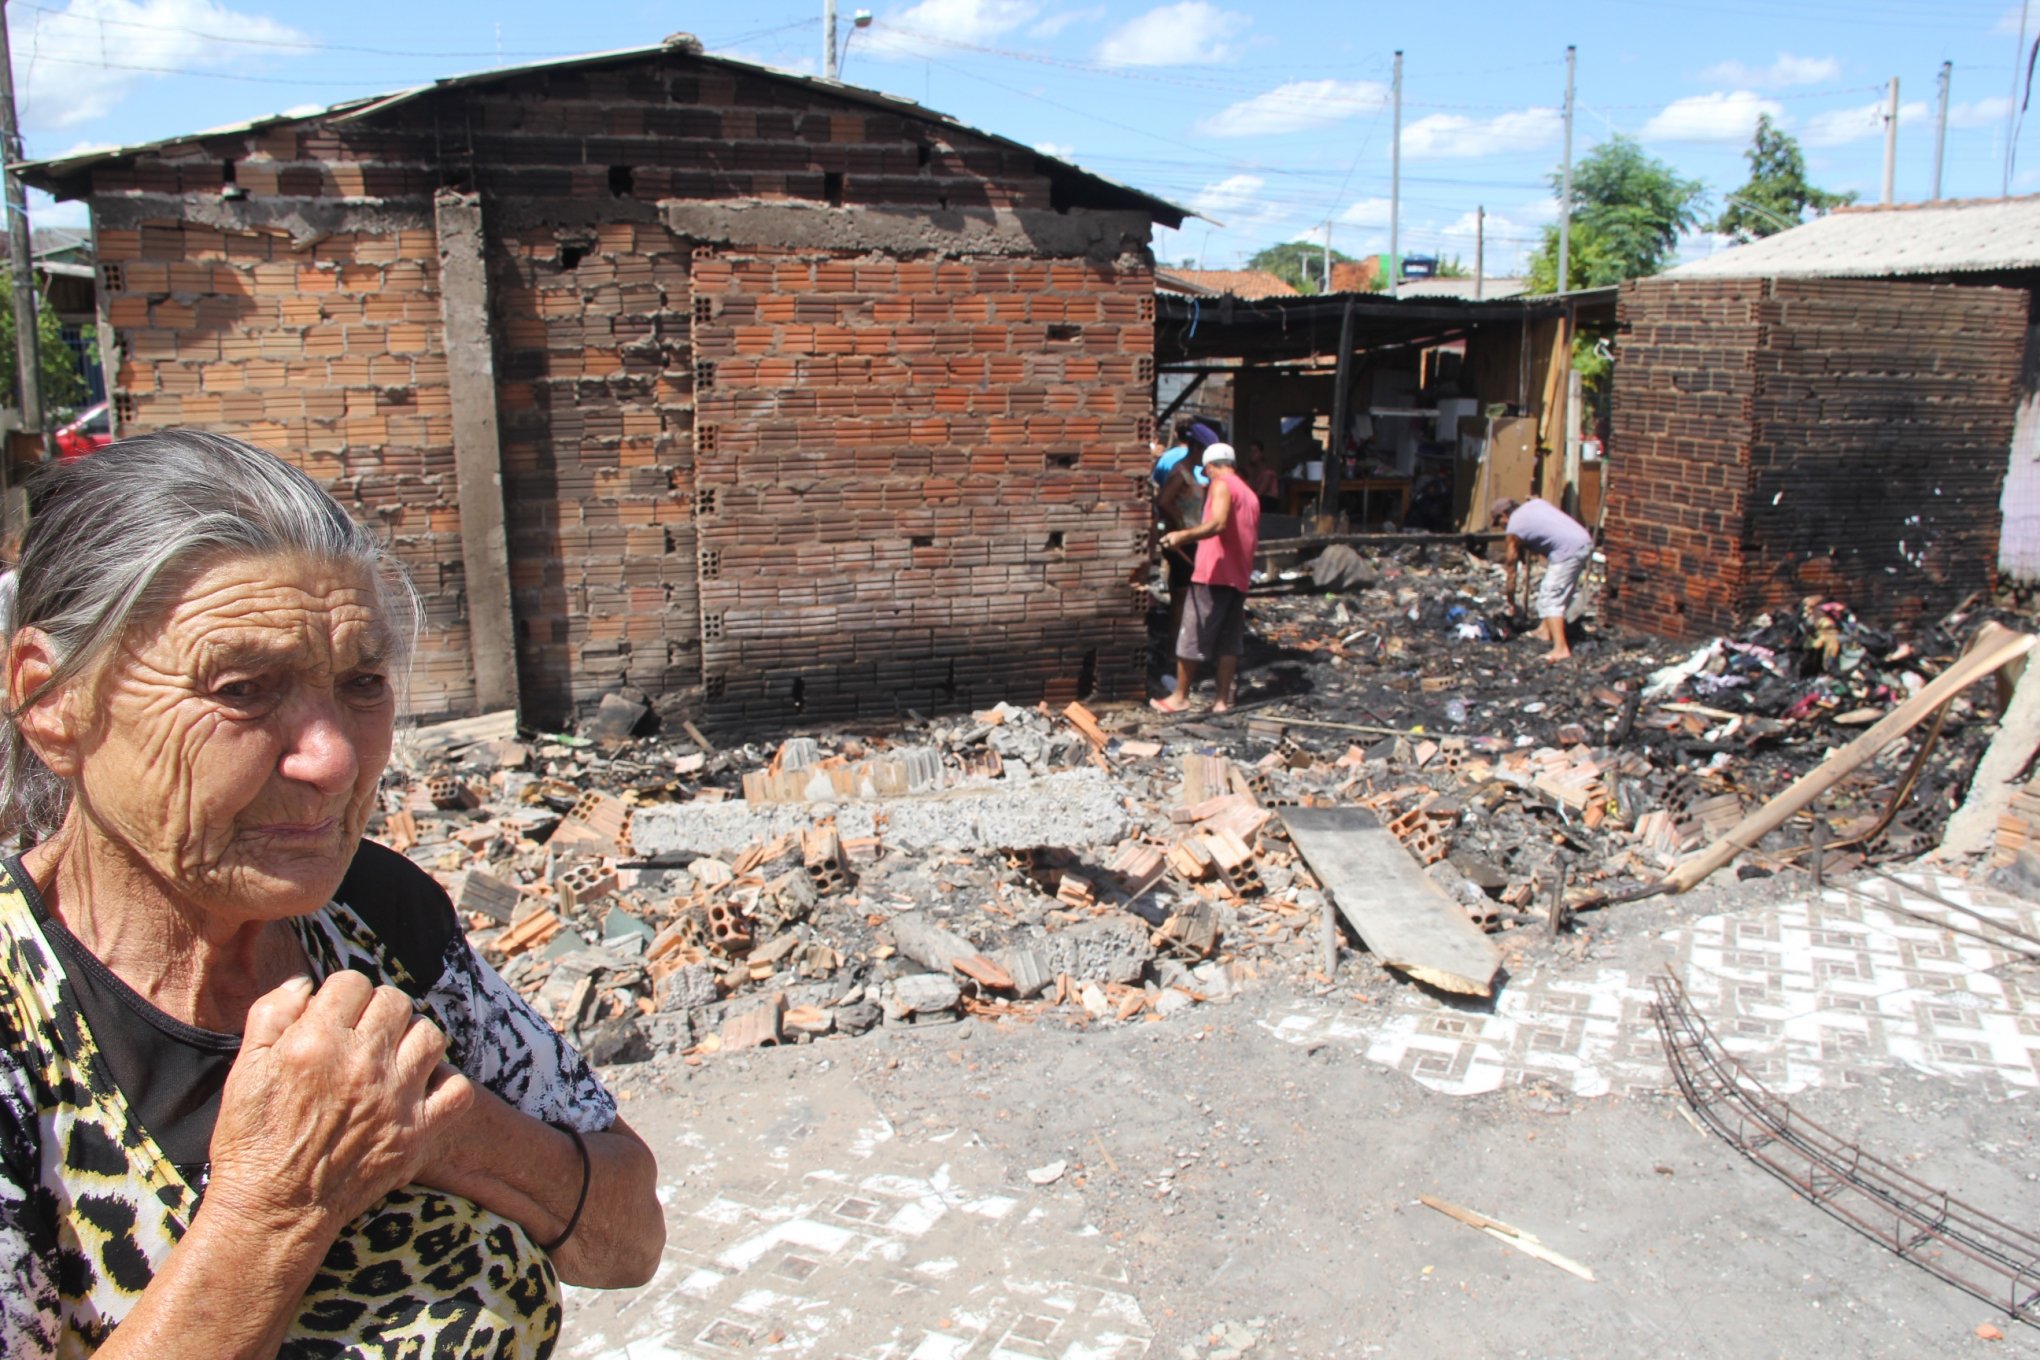
[[[447,332],[447,381],[453,389],[467,640],[475,663],[475,708],[490,714],[518,708],[518,691],[481,196],[441,190],[432,208],[439,232],[439,312]]]

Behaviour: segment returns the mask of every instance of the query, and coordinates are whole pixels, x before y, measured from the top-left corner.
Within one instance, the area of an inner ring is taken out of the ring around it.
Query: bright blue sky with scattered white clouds
[[[2040,35],[2030,6],[2028,49]],[[1169,265],[1230,269],[1283,241],[1387,249],[1393,53],[1404,53],[1404,253],[1520,271],[1557,214],[1565,49],[1577,47],[1575,159],[1616,133],[1707,188],[1744,181],[1771,114],[1812,184],[1875,202],[1881,108],[1899,80],[1895,196],[1932,196],[1940,65],[1952,63],[1942,194],[2040,192],[2024,100],[2022,0],[843,0],[843,80],[1193,210],[1159,230]],[[194,133],[398,90],[435,75],[643,47],[694,33],[708,51],[818,73],[822,0],[12,0],[31,157]],[[2018,67],[2018,75],[2016,75]],[[2016,84],[2018,82],[2018,84]],[[2040,108],[2034,108],[2040,120]],[[37,224],[80,204],[31,202]],[[1685,257],[1722,249],[1710,232]]]

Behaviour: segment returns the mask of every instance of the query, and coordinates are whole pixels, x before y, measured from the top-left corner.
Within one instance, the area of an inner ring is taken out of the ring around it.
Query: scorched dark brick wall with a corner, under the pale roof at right
[[[1691,636],[1826,595],[1905,626],[1989,585],[2024,294],[1648,279],[1620,322],[1614,622]]]

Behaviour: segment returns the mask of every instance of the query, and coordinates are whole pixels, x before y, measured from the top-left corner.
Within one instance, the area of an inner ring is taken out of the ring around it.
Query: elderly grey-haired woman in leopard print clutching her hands
[[[649,1148],[361,838],[375,540],[171,430],[47,473],[8,604],[0,1354],[545,1356],[561,1280],[649,1278]]]

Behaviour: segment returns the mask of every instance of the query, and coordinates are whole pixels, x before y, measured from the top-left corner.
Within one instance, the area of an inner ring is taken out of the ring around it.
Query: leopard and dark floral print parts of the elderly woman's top
[[[16,873],[0,867],[0,1356],[69,1360],[135,1307],[200,1191],[108,1075]],[[345,903],[292,924],[316,979],[410,981]],[[616,1121],[581,1056],[457,934],[418,1009],[447,1032],[449,1062],[524,1113],[581,1132]],[[520,1225],[410,1187],[341,1232],[282,1356],[543,1360],[559,1323],[559,1278]]]

